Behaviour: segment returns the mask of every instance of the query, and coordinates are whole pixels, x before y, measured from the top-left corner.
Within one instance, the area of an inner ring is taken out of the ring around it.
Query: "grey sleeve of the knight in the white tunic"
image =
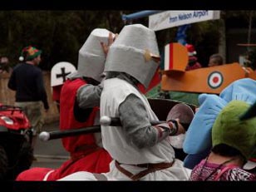
[[[170,134],[169,131],[151,126],[144,103],[134,94],[121,103],[119,113],[123,129],[131,142],[140,149],[153,146]]]

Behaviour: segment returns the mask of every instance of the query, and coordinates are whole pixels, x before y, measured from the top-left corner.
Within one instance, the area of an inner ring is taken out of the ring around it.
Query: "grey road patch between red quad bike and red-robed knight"
[[[59,123],[53,122],[43,126],[43,131],[59,130]],[[62,140],[42,141],[37,138],[34,149],[34,160],[32,167],[58,168],[63,162],[69,159],[69,154],[62,146]]]

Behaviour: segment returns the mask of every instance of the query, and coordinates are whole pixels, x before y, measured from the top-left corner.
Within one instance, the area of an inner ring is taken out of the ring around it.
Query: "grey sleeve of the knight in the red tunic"
[[[78,106],[83,109],[100,106],[102,89],[103,87],[101,84],[98,86],[93,86],[91,84],[81,86],[76,93]]]

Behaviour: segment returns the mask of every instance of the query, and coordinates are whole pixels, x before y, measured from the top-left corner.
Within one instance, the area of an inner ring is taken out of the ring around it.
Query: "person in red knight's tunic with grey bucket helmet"
[[[104,77],[102,72],[106,62],[106,48],[110,46],[113,39],[114,34],[112,32],[96,28],[81,47],[77,71],[66,76],[67,79],[62,86],[60,130],[79,129],[99,124],[99,107],[90,104],[91,108],[81,108],[80,101],[77,101],[76,96],[79,96],[77,91],[81,87],[90,84],[96,88],[100,84]],[[91,92],[89,90],[86,92],[87,94],[97,95],[97,91]],[[97,100],[100,97],[94,96],[94,98]],[[95,103],[99,103],[99,101]],[[86,105],[86,103],[83,105]],[[19,175],[17,180],[59,180],[66,175],[81,170],[94,173],[109,170],[111,156],[102,148],[101,133],[65,137],[62,138],[62,145],[70,153],[71,160],[67,160],[56,170],[38,167],[27,170]]]

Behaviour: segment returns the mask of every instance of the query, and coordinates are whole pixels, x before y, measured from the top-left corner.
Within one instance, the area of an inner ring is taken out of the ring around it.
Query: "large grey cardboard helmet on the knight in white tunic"
[[[104,71],[126,72],[148,87],[158,67],[151,56],[159,57],[155,32],[141,24],[127,25],[111,45]]]

